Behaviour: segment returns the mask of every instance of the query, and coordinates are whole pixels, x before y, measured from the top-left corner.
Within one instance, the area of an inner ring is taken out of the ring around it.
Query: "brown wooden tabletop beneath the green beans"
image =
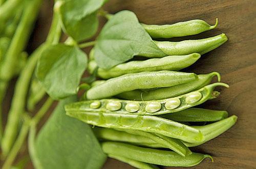
[[[44,41],[51,21],[51,5],[50,0],[44,2],[28,50]],[[206,159],[191,168],[256,168],[256,1],[110,0],[104,8],[110,13],[131,10],[136,13],[140,22],[148,24],[175,23],[190,19],[203,19],[214,24],[215,18],[219,18],[219,25],[215,30],[171,39],[200,39],[221,33],[226,33],[229,38],[224,45],[204,54],[196,64],[185,70],[195,73],[220,72],[222,81],[228,83],[230,88],[218,88],[221,96],[201,106],[228,110],[230,115],[239,117],[237,124],[221,136],[191,148],[195,152],[214,157],[214,163]],[[101,19],[101,24],[103,22],[104,19]],[[12,89],[13,86],[8,90],[5,110],[9,107]],[[103,168],[133,167],[108,159]]]

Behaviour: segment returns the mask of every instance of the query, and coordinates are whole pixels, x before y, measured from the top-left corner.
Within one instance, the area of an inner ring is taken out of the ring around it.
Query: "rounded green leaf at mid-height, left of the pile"
[[[76,46],[57,44],[42,52],[36,76],[53,99],[62,99],[76,94],[86,67],[86,53]]]

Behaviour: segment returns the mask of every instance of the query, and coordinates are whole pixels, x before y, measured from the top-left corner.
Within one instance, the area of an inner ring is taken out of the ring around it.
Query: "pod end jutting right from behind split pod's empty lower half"
[[[236,124],[238,117],[233,115],[229,118],[223,119],[221,121],[211,123],[205,126],[194,126],[194,128],[199,129],[203,135],[205,136],[205,140],[201,143],[191,144],[191,143],[185,143],[184,144],[187,147],[195,147],[204,144],[205,142],[208,142],[210,139],[213,139],[225,131],[227,131],[229,128],[231,128],[234,124]]]

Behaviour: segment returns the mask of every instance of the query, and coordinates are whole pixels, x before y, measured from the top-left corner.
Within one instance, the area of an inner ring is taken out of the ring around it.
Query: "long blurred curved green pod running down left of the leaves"
[[[54,17],[53,22],[56,22],[55,20],[58,20],[58,17]],[[55,35],[59,38],[58,33],[60,31],[60,25],[59,24],[54,25],[54,27],[52,27],[50,31],[51,32],[49,33],[49,36]],[[52,32],[55,32],[55,34]],[[55,39],[55,38],[51,38],[51,39]],[[53,41],[51,43],[55,43],[55,42]],[[13,145],[14,139],[17,135],[18,122],[19,122],[20,116],[25,110],[28,88],[29,88],[30,80],[32,78],[37,60],[40,56],[40,53],[51,43],[50,41],[48,41],[48,43],[42,44],[31,54],[26,66],[24,67],[22,73],[20,74],[17,80],[11,108],[8,114],[8,121],[5,129],[5,133],[2,139],[1,146],[2,146],[2,152],[4,157],[7,156],[7,154],[9,153]]]

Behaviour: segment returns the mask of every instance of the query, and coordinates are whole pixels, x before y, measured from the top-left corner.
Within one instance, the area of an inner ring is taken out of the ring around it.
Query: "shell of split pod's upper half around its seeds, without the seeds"
[[[168,99],[162,99],[162,100],[155,100],[155,101],[130,101],[130,100],[119,100],[119,99],[101,99],[101,100],[86,100],[86,101],[80,101],[80,102],[75,102],[75,103],[71,103],[65,106],[66,111],[84,111],[84,112],[105,112],[105,113],[112,113],[115,112],[117,114],[136,114],[136,115],[162,115],[162,114],[168,114],[168,113],[172,113],[172,112],[177,112],[177,111],[181,111],[184,109],[187,109],[189,107],[193,107],[199,104],[204,103],[205,101],[207,101],[209,98],[215,98],[215,95],[212,95],[216,92],[214,92],[214,88],[217,86],[224,86],[228,88],[228,85],[222,82],[216,82],[216,83],[212,83],[210,85],[207,85],[197,91],[193,91],[184,95],[180,95],[174,98],[168,98]],[[191,95],[193,95],[193,93],[200,93],[202,95],[202,97],[191,104],[188,104],[186,102],[187,98]],[[179,100],[180,101],[180,105],[176,108],[173,109],[168,109],[168,107],[166,107],[166,103],[169,100]],[[90,105],[93,104],[94,102],[100,102],[100,106],[98,108],[91,108]],[[121,106],[119,109],[112,111],[111,109],[108,109],[110,103],[112,102],[120,102]],[[126,105],[130,102],[134,102],[134,103],[138,103],[140,105],[138,111],[133,111],[133,112],[129,112],[126,109]],[[158,103],[160,106],[160,109],[155,110],[154,112],[150,112],[147,111],[147,106],[152,104],[152,103]]]

